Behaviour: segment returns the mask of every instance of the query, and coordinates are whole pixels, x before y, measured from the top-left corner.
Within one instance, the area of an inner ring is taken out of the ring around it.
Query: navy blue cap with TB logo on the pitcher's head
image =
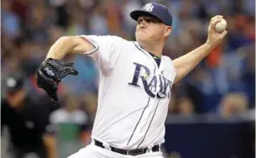
[[[168,8],[165,5],[156,2],[148,3],[143,6],[141,10],[134,10],[130,14],[132,19],[136,21],[143,15],[152,15],[157,19],[160,19],[162,23],[165,23],[167,26],[171,26],[173,22],[173,18]]]

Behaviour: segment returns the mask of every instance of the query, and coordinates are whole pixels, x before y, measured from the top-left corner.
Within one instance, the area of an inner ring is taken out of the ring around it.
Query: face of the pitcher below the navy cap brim
[[[140,42],[165,41],[171,27],[153,16],[141,16],[136,25],[136,40]]]

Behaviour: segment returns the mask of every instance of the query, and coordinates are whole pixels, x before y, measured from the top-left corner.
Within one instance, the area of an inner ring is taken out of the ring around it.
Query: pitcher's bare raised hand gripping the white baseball
[[[208,27],[208,39],[207,44],[211,47],[215,48],[218,44],[221,43],[221,41],[225,38],[225,35],[227,35],[228,31],[218,32],[216,31],[216,23],[220,22],[220,20],[223,19],[223,16],[216,15],[212,17],[211,22],[209,23]]]

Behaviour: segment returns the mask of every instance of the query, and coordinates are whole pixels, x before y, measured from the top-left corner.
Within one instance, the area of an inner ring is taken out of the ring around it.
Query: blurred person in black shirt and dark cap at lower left
[[[5,84],[1,129],[8,127],[10,131],[10,153],[15,158],[23,158],[28,153],[40,158],[57,158],[48,102],[31,99],[23,88],[23,77],[18,74],[8,76]]]

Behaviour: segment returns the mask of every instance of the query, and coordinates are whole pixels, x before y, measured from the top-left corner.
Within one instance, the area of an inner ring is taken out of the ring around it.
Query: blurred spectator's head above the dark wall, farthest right
[[[248,110],[248,100],[245,94],[230,93],[225,95],[220,102],[220,114],[224,118],[243,114]]]

